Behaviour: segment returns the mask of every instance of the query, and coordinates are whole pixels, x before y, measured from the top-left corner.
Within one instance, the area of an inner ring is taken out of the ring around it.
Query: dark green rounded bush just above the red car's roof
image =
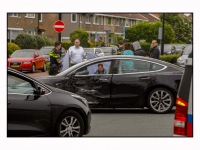
[[[29,34],[18,34],[15,38],[15,44],[17,44],[21,49],[36,49],[37,41],[35,36]]]

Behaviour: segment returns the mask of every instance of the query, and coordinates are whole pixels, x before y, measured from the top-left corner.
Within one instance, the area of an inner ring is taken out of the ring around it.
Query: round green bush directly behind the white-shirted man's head
[[[70,33],[70,40],[71,43],[74,43],[76,39],[80,40],[80,46],[82,47],[89,47],[88,39],[89,39],[89,34],[85,32],[84,30],[77,29],[73,32]]]

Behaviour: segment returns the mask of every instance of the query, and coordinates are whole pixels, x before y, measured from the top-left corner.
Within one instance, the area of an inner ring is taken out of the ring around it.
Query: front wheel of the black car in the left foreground
[[[57,136],[81,137],[83,136],[84,123],[81,116],[72,110],[64,112],[58,120]]]

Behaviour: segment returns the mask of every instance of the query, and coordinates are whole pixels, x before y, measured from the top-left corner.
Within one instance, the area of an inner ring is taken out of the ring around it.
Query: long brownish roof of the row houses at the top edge
[[[141,16],[138,13],[105,13],[105,15],[111,15],[116,17],[124,17],[124,18],[131,18],[136,20],[147,20],[144,16]]]

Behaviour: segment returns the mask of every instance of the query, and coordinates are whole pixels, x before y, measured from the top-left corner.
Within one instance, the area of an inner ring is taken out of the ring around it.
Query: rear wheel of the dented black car
[[[174,105],[174,96],[165,88],[156,88],[149,93],[147,104],[155,113],[167,113]]]

